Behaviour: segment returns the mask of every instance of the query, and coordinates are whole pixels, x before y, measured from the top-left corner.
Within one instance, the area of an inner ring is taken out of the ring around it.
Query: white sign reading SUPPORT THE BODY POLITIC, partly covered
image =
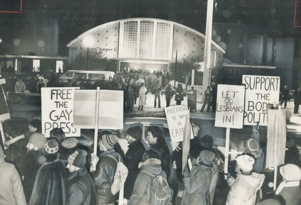
[[[244,125],[267,126],[267,104],[279,103],[280,77],[243,75],[246,88]]]

